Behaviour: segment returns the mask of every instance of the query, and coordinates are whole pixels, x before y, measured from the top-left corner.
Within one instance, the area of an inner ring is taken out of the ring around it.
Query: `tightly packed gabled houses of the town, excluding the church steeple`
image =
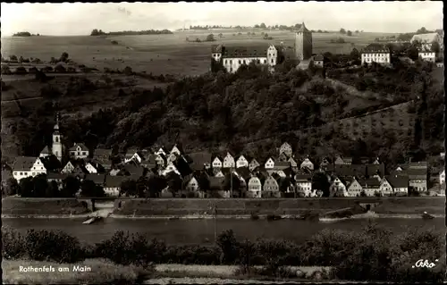
[[[315,181],[315,175],[321,173],[327,180],[331,196],[407,195],[409,189],[427,191],[425,162],[408,163],[385,173],[384,163],[377,158],[360,158],[360,163],[352,163],[352,158],[336,155],[324,157],[315,165],[309,157],[296,159],[288,143],[284,143],[278,153],[261,164],[255,158],[233,156],[229,152],[225,155],[207,152],[185,155],[181,146],[175,145],[171,151],[164,147],[155,151],[130,149],[118,163],[112,163],[114,155],[111,150],[96,149],[91,158],[73,158],[59,167],[55,166],[57,160],[51,155],[18,157],[13,164],[13,177],[20,180],[46,173],[48,180],[62,183],[64,178],[75,176],[80,180],[93,180],[110,196],[119,195],[124,180],[138,180],[150,175],[166,177],[171,172],[181,178],[184,195],[191,192],[198,197],[209,196],[209,191],[213,190],[221,197],[231,197],[231,193],[244,197],[291,194],[318,197],[324,189],[321,182]],[[237,189],[232,189],[225,182],[232,177],[239,179],[237,185],[232,185]],[[440,174],[439,182],[445,184],[445,171]],[[171,192],[165,189],[162,194],[171,195]]]

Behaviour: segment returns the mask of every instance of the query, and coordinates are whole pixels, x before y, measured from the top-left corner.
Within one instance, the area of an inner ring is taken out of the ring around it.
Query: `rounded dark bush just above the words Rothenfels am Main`
[[[39,261],[74,263],[85,258],[80,241],[63,231],[30,230],[23,247],[27,256]]]

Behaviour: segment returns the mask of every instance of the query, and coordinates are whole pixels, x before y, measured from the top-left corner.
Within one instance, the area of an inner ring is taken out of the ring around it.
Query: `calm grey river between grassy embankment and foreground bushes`
[[[224,230],[232,230],[238,239],[293,239],[304,241],[318,231],[324,229],[340,229],[359,231],[364,228],[367,219],[350,219],[338,222],[310,222],[299,220],[154,220],[154,219],[113,219],[107,218],[93,224],[82,224],[85,219],[24,219],[4,218],[4,226],[9,226],[25,233],[27,230],[62,230],[80,241],[96,243],[111,238],[115,231],[129,233],[148,233],[151,237],[163,239],[168,244],[206,244],[212,243],[217,234]],[[409,228],[434,230],[445,234],[445,219],[375,219],[379,226],[395,233],[408,231]]]

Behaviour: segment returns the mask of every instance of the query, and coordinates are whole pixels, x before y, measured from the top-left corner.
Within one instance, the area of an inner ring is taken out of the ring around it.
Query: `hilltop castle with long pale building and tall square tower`
[[[270,68],[282,63],[288,56],[287,49],[282,45],[269,46],[223,46],[211,47],[211,57],[222,63],[228,72],[236,72],[241,65],[249,63],[266,64]],[[295,32],[293,56],[300,61],[312,57],[312,32],[304,23]]]

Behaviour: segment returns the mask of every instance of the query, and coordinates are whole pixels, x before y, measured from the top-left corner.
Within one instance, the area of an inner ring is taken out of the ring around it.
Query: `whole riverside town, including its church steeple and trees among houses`
[[[67,195],[63,189],[73,188],[68,195],[87,197],[445,195],[445,170],[437,175],[431,173],[428,178],[424,161],[401,164],[387,173],[379,158],[299,157],[287,142],[278,147],[277,156],[266,162],[229,152],[185,154],[181,144],[169,149],[131,148],[117,154],[112,149],[89,150],[81,142],[65,147],[57,118],[51,147],[45,147],[38,157],[16,158],[11,169],[13,177],[5,186],[9,195],[46,197],[51,193],[60,197],[62,192]],[[429,191],[431,185],[438,185],[440,190]]]

